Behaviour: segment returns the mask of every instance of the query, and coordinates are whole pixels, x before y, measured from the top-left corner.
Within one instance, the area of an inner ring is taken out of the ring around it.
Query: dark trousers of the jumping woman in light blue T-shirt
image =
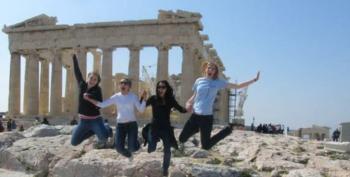
[[[219,133],[210,137],[213,129],[213,115],[197,115],[192,114],[187,120],[179,137],[181,143],[185,143],[188,138],[200,131],[202,148],[209,150],[220,140],[231,134],[232,130],[229,127],[222,129]]]

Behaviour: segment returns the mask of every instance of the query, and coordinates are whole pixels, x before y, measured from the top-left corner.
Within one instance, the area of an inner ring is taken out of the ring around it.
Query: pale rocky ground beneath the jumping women
[[[162,176],[162,143],[151,154],[143,147],[130,161],[114,149],[94,149],[95,138],[71,146],[71,130],[71,126],[40,125],[22,133],[0,133],[0,176]],[[327,151],[322,142],[237,130],[210,151],[195,144],[190,139],[184,153],[173,152],[169,176],[350,176],[350,154]]]

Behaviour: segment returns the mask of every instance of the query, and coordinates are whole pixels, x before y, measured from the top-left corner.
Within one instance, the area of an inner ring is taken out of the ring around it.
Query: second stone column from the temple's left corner
[[[24,90],[24,115],[38,115],[39,55],[35,50],[30,50],[26,59]]]

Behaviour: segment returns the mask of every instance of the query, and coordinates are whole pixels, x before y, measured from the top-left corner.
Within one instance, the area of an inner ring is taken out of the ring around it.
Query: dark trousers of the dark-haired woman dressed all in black
[[[157,149],[157,143],[159,139],[163,141],[164,147],[164,156],[163,156],[163,171],[168,171],[170,165],[171,157],[171,143],[170,143],[170,134],[166,130],[157,130],[155,135],[152,135],[152,130],[149,129],[148,132],[148,153],[154,152]]]

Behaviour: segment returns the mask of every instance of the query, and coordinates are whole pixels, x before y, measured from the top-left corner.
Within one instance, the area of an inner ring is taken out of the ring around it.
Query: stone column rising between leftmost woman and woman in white
[[[113,94],[113,48],[104,48],[103,50],[103,59],[102,59],[102,74],[101,74],[101,88],[103,99],[107,99]],[[113,107],[109,106],[108,108],[104,108],[102,113],[104,115],[111,115]]]

